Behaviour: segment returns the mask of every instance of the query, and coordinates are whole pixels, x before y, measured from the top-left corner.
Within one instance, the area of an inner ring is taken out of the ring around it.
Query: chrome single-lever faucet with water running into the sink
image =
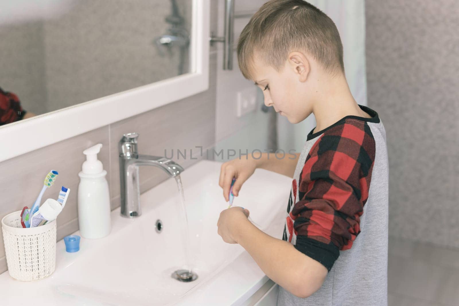
[[[140,184],[139,166],[156,166],[164,170],[170,177],[176,177],[183,168],[166,157],[140,155],[137,153],[137,138],[139,134],[123,134],[119,141],[119,179],[121,192],[121,216],[139,217]]]

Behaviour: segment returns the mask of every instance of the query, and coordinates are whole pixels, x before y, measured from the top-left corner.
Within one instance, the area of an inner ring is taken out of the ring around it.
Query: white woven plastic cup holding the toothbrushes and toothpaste
[[[46,278],[56,268],[56,220],[22,228],[21,212],[11,212],[1,219],[8,272],[21,281]]]

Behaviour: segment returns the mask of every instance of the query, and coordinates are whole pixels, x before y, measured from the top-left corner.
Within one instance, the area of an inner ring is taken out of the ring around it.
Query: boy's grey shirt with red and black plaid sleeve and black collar
[[[329,271],[299,298],[279,286],[278,306],[386,306],[388,157],[378,114],[346,116],[308,134],[292,181],[283,240]]]

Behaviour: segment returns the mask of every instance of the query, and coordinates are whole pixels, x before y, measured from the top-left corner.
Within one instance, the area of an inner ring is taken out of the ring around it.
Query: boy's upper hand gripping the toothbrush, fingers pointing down
[[[225,201],[229,201],[229,188],[233,178],[236,178],[233,185],[233,195],[238,196],[242,184],[250,178],[257,168],[256,161],[252,159],[233,159],[224,162],[220,168],[220,179],[218,185],[223,188]]]

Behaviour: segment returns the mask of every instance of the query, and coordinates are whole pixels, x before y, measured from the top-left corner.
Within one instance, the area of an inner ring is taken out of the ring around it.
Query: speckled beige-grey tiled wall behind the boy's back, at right
[[[365,4],[368,105],[387,133],[389,235],[459,247],[459,1]]]

